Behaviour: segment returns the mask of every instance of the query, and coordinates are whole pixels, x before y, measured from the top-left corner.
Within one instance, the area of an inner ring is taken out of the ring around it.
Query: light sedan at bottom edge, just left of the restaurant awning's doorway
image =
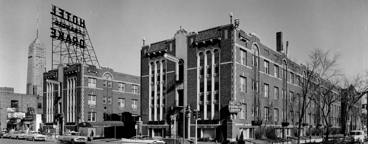
[[[62,136],[59,136],[57,140],[59,140],[60,143],[71,142],[72,144],[85,144],[87,142],[87,137],[81,136],[81,133],[78,132],[65,132]]]

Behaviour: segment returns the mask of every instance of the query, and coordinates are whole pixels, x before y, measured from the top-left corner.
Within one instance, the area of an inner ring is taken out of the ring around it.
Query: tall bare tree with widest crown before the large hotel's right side
[[[334,84],[337,82],[331,81],[337,81],[337,77],[341,76],[341,69],[339,69],[338,63],[340,56],[340,53],[333,54],[330,51],[323,51],[320,48],[315,48],[308,54],[309,58],[306,61],[306,64],[302,64],[302,66],[299,66],[293,62],[285,62],[287,68],[291,69],[294,74],[302,74],[302,77],[297,76],[296,78],[297,85],[301,87],[300,91],[298,92],[301,94],[301,103],[298,105],[298,111],[300,112],[300,115],[297,115],[296,121],[298,125],[298,144],[300,144],[300,130],[308,105],[311,104],[311,102],[314,102],[317,103],[316,105],[319,107],[319,109],[326,107],[326,110],[328,110],[327,113],[325,113],[323,109],[322,111],[323,115],[328,115],[330,111],[330,105],[336,101],[335,97],[330,99],[329,103],[323,103],[322,106],[318,104],[318,98],[330,96],[332,89],[336,89]],[[319,93],[319,89],[322,86],[329,86],[329,90],[325,91],[323,95]],[[327,119],[325,119],[325,122],[328,122]]]

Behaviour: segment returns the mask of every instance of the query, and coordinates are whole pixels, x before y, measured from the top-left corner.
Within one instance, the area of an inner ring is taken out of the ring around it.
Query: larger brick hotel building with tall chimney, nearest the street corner
[[[254,33],[233,24],[199,32],[178,30],[171,39],[141,49],[142,135],[195,137],[192,111],[200,111],[198,137],[235,141],[243,132],[253,139],[266,124],[279,137],[294,135],[300,115],[301,84],[305,66],[289,59],[282,33],[276,50]],[[293,65],[296,70],[287,66]],[[318,79],[318,76],[316,76]],[[337,95],[337,91],[332,92]],[[287,99],[286,99],[287,98]],[[241,101],[241,112],[230,114],[229,101]],[[183,109],[185,124],[183,124]],[[308,106],[301,134],[325,126],[316,104]],[[340,127],[340,102],[329,115],[332,128]],[[257,122],[262,121],[258,126]],[[289,122],[283,126],[282,122]],[[307,128],[308,127],[308,128]],[[183,134],[183,128],[185,134]],[[283,129],[284,128],[284,129]]]

